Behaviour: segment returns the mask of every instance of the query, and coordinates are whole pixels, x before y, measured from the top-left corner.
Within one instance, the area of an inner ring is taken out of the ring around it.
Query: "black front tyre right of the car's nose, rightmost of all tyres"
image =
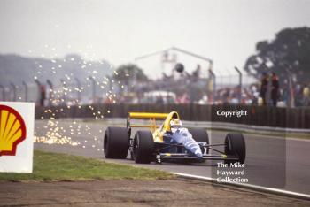
[[[243,134],[227,134],[225,138],[225,154],[231,157],[237,157],[238,160],[225,160],[225,164],[240,162],[244,164],[245,161],[245,141]]]

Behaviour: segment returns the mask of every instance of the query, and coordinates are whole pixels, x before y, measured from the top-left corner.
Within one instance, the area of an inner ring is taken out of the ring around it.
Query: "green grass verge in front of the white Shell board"
[[[155,180],[173,178],[172,173],[97,159],[35,150],[34,173],[0,173],[0,180]]]

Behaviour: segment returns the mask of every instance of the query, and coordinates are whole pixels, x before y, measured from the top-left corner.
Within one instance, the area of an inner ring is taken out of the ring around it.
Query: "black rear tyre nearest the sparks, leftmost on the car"
[[[128,154],[129,137],[127,128],[108,127],[105,130],[105,158],[125,159]]]

